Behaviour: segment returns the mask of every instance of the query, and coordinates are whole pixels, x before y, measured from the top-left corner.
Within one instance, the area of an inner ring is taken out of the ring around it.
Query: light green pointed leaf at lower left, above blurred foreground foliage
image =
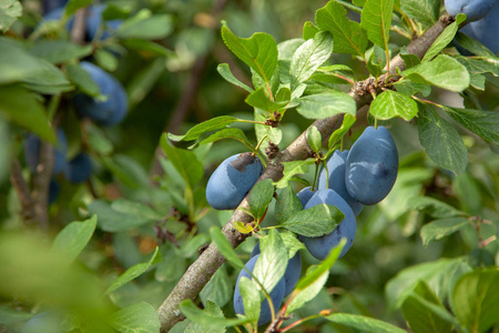
[[[52,252],[62,254],[72,263],[86,246],[96,226],[96,215],[82,222],[71,222],[62,229],[52,243]]]

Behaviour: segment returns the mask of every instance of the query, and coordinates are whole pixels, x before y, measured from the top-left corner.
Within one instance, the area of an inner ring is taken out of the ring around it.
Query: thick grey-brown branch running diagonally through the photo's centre
[[[437,23],[435,23],[420,38],[414,40],[407,47],[408,52],[418,56],[418,58],[422,58],[429,47],[451,22],[452,19],[448,16],[440,18]],[[396,56],[390,63],[390,74],[396,73],[396,68],[399,68],[400,70],[405,69],[404,61],[399,56]],[[380,78],[378,82],[384,82],[384,78]],[[375,89],[376,93],[380,93],[383,91],[383,84],[375,83],[375,80],[369,78],[365,81],[357,82],[352,88],[348,94],[354,98],[357,104],[357,110],[370,103],[373,100],[369,89]],[[343,117],[344,114],[337,114],[327,119],[317,120],[313,123],[313,125],[315,125],[323,135],[324,142],[326,142],[330,134],[342,125]],[[282,162],[305,160],[312,157],[312,150],[309,149],[306,140],[306,132],[307,131],[304,131],[292,144],[289,144],[288,148],[286,148],[286,150],[282,151],[277,155],[273,163],[269,163],[258,181],[266,179],[278,181],[283,176]],[[248,195],[243,200],[241,205],[248,209],[247,199]],[[252,218],[243,213],[241,210],[236,210],[223,228],[222,232],[227,238],[232,246],[236,248],[249,234],[241,234],[238,231],[234,230],[232,228],[234,221],[248,223],[252,222]],[[177,322],[185,319],[179,310],[179,304],[187,299],[194,300],[216,270],[222,265],[222,263],[224,263],[224,256],[216,250],[216,245],[212,242],[210,246],[200,255],[200,258],[187,269],[174,290],[157,310],[161,321],[161,332],[170,331],[170,329],[172,329]]]

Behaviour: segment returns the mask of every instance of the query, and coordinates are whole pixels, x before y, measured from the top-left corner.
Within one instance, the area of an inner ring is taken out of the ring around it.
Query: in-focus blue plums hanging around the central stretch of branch
[[[251,153],[233,155],[221,163],[208,180],[206,186],[207,202],[217,210],[236,209],[241,201],[262,174],[261,161]],[[327,172],[323,169],[318,178],[318,189],[303,189],[297,196],[304,206],[326,203],[338,208],[345,215],[336,229],[326,235],[308,238],[298,235],[308,252],[318,260],[324,260],[342,238],[347,239],[339,258],[350,249],[355,232],[356,216],[364,205],[380,202],[390,192],[398,172],[398,152],[394,139],[384,127],[368,127],[355,141],[350,151],[336,150],[327,161]],[[326,174],[327,173],[327,174]],[[259,255],[259,243],[251,254],[246,269],[253,272]],[[289,259],[283,279],[269,293],[274,309],[278,309],[296,286],[302,272],[299,252]],[[240,293],[240,280],[251,274],[241,271],[234,291],[234,311],[244,314],[243,299]],[[271,320],[268,302],[261,307],[258,325]]]

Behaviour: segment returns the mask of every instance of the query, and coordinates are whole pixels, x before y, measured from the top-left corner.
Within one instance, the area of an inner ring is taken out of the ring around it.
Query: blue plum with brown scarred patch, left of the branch
[[[251,153],[230,157],[210,176],[206,185],[207,202],[216,210],[236,209],[262,171],[262,162]]]

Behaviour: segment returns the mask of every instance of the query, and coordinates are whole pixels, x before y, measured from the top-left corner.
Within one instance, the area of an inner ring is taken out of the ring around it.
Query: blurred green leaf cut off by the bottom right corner
[[[478,269],[464,274],[452,291],[454,312],[469,332],[486,332],[499,322],[499,271]]]

